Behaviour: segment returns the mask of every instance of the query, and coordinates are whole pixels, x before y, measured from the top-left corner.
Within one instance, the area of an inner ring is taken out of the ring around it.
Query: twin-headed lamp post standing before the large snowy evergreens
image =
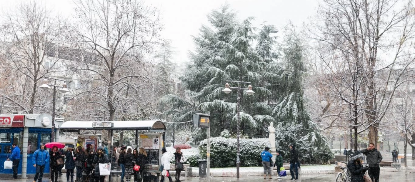
[[[236,154],[236,177],[239,178],[239,166],[240,166],[240,161],[239,161],[239,156],[240,156],[240,150],[239,150],[239,136],[240,136],[240,129],[239,129],[239,125],[241,124],[241,116],[240,116],[240,112],[241,112],[241,95],[242,95],[242,91],[243,90],[247,90],[247,95],[253,95],[255,92],[252,90],[252,85],[250,82],[239,82],[239,81],[229,81],[227,80],[227,82],[232,82],[232,83],[237,83],[238,87],[230,87],[229,83],[225,84],[225,89],[222,90],[222,92],[225,92],[226,94],[229,94],[230,92],[232,92],[232,90],[236,90],[238,92],[238,98],[237,98],[237,154]],[[243,87],[239,87],[239,84],[249,84],[248,88],[243,88]]]

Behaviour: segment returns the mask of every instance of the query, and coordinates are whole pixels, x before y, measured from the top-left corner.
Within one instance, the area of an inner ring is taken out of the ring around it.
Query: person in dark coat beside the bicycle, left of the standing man
[[[349,163],[347,163],[347,170],[349,170],[350,174],[352,175],[350,177],[351,182],[364,182],[363,175],[366,173],[366,170],[368,170],[369,167],[363,167],[363,156],[364,155],[360,151],[357,151],[352,159],[349,160]]]

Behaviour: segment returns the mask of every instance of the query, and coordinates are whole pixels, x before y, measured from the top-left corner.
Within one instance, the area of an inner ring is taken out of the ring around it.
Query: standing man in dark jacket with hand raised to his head
[[[366,155],[366,162],[369,165],[369,176],[372,182],[379,182],[379,172],[381,170],[379,163],[383,159],[381,152],[375,148],[375,144],[369,143],[369,147],[361,150],[361,153]]]

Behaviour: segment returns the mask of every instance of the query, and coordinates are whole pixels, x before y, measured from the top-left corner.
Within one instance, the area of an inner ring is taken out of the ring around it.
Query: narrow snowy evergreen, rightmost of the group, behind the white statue
[[[306,73],[303,40],[292,25],[286,31],[288,33],[284,36],[283,44],[284,71],[280,79],[284,89],[277,95],[281,97],[281,102],[273,108],[273,116],[278,123],[277,148],[289,151],[288,144],[293,143],[297,146],[301,160],[326,163],[332,158],[330,146],[327,138],[320,133],[320,126],[311,120],[303,101],[303,76]]]

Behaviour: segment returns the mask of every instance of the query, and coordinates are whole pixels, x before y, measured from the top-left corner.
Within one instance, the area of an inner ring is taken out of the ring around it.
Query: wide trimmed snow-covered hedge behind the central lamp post
[[[270,147],[267,138],[240,139],[240,166],[262,166],[261,152]],[[206,158],[206,140],[199,145],[199,155]],[[236,166],[237,139],[214,137],[210,138],[210,167]]]

